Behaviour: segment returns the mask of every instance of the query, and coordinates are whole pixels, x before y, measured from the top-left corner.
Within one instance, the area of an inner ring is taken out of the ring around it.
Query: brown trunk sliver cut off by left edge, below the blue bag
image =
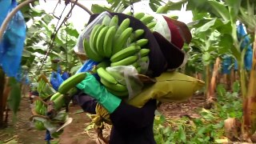
[[[5,87],[5,74],[2,70],[2,68],[0,67],[0,127],[4,126],[4,111],[5,111],[5,105],[6,103],[4,102],[4,94],[3,94],[3,90]]]

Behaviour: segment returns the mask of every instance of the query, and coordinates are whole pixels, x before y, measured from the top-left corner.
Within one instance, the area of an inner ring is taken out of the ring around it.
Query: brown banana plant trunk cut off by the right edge
[[[243,136],[251,136],[256,130],[256,28],[254,33],[253,63],[246,99],[243,102]]]

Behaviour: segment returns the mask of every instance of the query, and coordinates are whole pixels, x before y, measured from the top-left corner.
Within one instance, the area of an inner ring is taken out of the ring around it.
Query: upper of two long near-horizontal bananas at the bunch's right
[[[112,55],[110,58],[111,62],[118,62],[124,58],[130,57],[138,52],[141,48],[139,46],[129,46],[120,51],[116,54]]]

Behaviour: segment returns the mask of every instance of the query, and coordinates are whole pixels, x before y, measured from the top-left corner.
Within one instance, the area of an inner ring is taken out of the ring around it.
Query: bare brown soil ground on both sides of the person
[[[195,110],[202,107],[205,98],[202,95],[195,95],[190,102],[173,103],[166,102],[158,108],[158,111],[166,118],[179,118],[184,115],[193,116]],[[73,118],[73,122],[66,126],[60,138],[54,139],[60,144],[97,144],[96,134],[88,135],[85,132],[86,125],[90,122],[90,118],[86,113],[78,113],[81,111],[79,106],[70,106],[69,116]],[[0,129],[0,144],[2,142],[16,142],[18,144],[45,144],[45,131],[34,130],[30,126],[29,118],[30,101],[28,98],[22,98],[20,110],[18,111],[18,121],[12,122],[12,113],[9,115],[9,126]],[[92,132],[94,133],[94,132]]]

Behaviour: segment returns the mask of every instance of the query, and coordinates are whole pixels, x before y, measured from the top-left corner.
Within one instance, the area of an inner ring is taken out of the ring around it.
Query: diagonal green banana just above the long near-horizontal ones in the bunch
[[[127,42],[130,34],[133,32],[133,28],[128,27],[126,30],[122,32],[122,34],[117,38],[116,42],[114,42],[114,47],[112,50],[112,55],[116,54],[118,51],[122,50],[123,46]]]

